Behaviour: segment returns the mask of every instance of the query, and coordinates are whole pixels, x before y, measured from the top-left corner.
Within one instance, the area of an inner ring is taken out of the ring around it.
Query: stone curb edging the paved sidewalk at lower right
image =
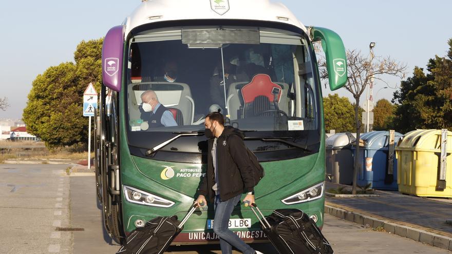
[[[441,236],[436,233],[428,232],[419,228],[409,227],[398,223],[377,219],[361,213],[347,211],[330,205],[325,205],[325,213],[331,214],[339,219],[354,222],[360,225],[369,225],[372,228],[381,227],[386,232],[409,238],[417,242],[440,247],[446,250],[452,250],[452,238]]]

